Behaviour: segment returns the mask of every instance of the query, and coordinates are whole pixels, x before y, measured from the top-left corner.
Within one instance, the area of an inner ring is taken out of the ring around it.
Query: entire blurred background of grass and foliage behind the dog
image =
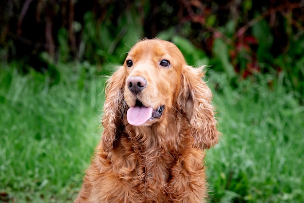
[[[304,202],[304,0],[1,0],[0,203],[69,203],[142,37],[208,65],[210,203]]]

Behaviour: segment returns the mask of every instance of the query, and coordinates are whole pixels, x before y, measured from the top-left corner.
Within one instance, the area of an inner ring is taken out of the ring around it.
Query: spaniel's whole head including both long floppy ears
[[[217,122],[210,104],[212,93],[201,79],[202,69],[186,65],[171,42],[147,39],[136,43],[106,87],[104,150],[113,147],[125,116],[130,125],[151,126],[162,122],[171,108],[186,114],[195,147],[215,145]]]

